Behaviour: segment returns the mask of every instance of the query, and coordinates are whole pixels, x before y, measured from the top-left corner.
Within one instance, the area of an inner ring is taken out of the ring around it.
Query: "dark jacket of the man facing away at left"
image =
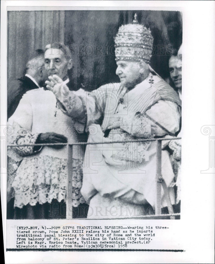
[[[19,101],[24,93],[29,90],[37,89],[38,86],[27,76],[8,81],[7,86],[7,119],[15,112]]]

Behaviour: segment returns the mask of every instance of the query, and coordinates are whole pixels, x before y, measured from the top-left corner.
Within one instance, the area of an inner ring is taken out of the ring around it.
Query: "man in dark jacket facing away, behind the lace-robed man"
[[[44,51],[35,50],[26,64],[23,77],[9,81],[7,90],[7,118],[15,112],[22,96],[29,90],[44,86],[48,75],[44,67]]]

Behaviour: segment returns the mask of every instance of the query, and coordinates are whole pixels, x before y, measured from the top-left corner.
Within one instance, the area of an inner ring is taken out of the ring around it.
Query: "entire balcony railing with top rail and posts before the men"
[[[172,203],[170,200],[168,187],[162,177],[161,173],[161,154],[162,154],[162,141],[163,140],[177,140],[181,139],[180,137],[169,137],[169,138],[149,138],[149,139],[135,139],[135,140],[126,140],[126,141],[109,141],[109,142],[78,142],[73,144],[68,143],[50,143],[50,144],[8,144],[8,147],[28,147],[28,146],[56,146],[56,145],[68,145],[68,183],[67,183],[67,192],[66,192],[66,219],[72,218],[72,177],[73,177],[73,145],[102,145],[102,144],[113,144],[113,143],[130,143],[130,142],[146,142],[146,141],[156,141],[156,193],[155,193],[155,214],[153,215],[142,215],[130,217],[132,219],[175,219],[175,216],[180,216],[180,213],[174,213],[172,208]],[[108,165],[107,165],[108,166]],[[162,197],[161,197],[161,188],[163,188],[164,196],[167,202],[168,214],[162,214]],[[70,210],[68,210],[68,208]],[[126,217],[129,218],[129,217]],[[93,219],[93,218],[87,218]],[[107,218],[105,218],[107,219]],[[111,218],[113,219],[113,218]],[[123,219],[123,218],[116,218]]]

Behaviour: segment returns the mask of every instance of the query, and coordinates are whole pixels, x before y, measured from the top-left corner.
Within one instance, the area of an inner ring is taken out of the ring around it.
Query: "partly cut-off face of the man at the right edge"
[[[176,88],[181,88],[182,63],[178,56],[172,55],[169,59],[169,74]]]

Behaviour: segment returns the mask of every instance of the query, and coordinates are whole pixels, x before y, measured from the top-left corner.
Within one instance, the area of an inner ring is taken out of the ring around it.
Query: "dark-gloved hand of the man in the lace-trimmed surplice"
[[[67,143],[67,138],[64,135],[57,134],[54,132],[47,132],[47,133],[41,133],[39,134],[37,140],[37,144],[44,144],[44,143]],[[55,145],[50,146],[55,149],[63,148],[64,145]]]

